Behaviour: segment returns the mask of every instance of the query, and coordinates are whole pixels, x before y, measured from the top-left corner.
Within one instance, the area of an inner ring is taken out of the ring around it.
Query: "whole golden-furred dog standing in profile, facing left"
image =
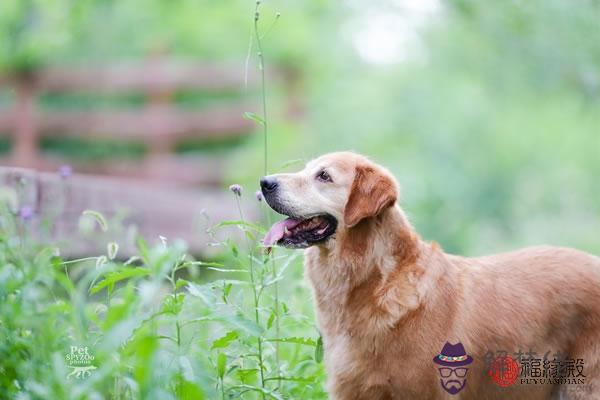
[[[600,258],[550,246],[446,254],[415,232],[389,171],[355,153],[260,185],[288,217],[264,244],[305,249],[331,398],[600,399]],[[560,354],[577,380],[542,368]],[[527,360],[547,379],[525,374]]]

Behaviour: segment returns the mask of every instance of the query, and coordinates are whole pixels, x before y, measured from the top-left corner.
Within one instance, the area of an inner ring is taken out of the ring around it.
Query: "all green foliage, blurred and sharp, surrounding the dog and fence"
[[[305,109],[302,123],[286,119],[285,88],[268,85],[269,172],[352,149],[390,168],[417,230],[448,251],[547,242],[600,252],[598,1],[442,1],[440,15],[419,32],[419,51],[391,65],[357,54],[352,21],[395,12],[398,2],[350,3],[261,5],[263,32],[282,13],[276,34],[263,41],[265,63],[300,77],[295,93]],[[259,64],[256,44],[248,49],[254,7],[245,0],[4,0],[0,71],[117,62],[166,49],[238,62],[243,76],[248,52],[248,68]],[[0,93],[0,103],[11,96]],[[52,94],[41,103],[144,102],[86,96]],[[199,106],[214,94],[175,97]],[[254,111],[245,117],[266,129],[267,119]],[[252,193],[266,169],[257,161],[265,138],[181,143],[178,151],[235,145],[230,173],[236,182],[246,179]],[[42,145],[85,159],[145,152],[65,139]],[[260,224],[240,213],[215,226],[243,239],[220,243],[226,256],[218,262],[196,260],[179,243],[148,247],[143,240],[137,256],[123,262],[109,223],[88,213],[92,226],[108,230],[106,254],[73,262],[33,242],[27,222],[15,217],[17,196],[0,194],[9,205],[0,219],[0,398],[325,397],[323,342],[299,260],[279,252],[267,258]],[[95,356],[97,369],[85,379],[67,378],[71,346]]]

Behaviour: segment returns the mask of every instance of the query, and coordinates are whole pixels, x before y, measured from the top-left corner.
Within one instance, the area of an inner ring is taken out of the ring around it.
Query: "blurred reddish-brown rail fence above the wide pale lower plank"
[[[176,62],[166,58],[108,67],[54,67],[18,77],[0,77],[0,86],[15,90],[13,107],[0,110],[0,134],[12,138],[12,151],[2,165],[54,171],[64,160],[42,154],[40,138],[78,137],[139,142],[147,146],[144,162],[109,160],[74,162],[86,173],[145,178],[172,183],[219,183],[223,160],[182,157],[177,143],[189,139],[223,140],[250,133],[253,125],[244,111],[256,108],[230,101],[208,108],[189,109],[175,104],[174,94],[186,92],[242,92],[241,66]],[[255,80],[249,77],[250,87]],[[142,94],[140,108],[115,110],[44,110],[42,94]]]

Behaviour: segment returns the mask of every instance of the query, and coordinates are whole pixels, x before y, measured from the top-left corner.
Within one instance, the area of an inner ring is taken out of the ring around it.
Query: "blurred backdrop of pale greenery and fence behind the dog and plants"
[[[208,220],[235,215],[229,184],[259,218],[254,7],[3,0],[0,165],[49,172],[24,190],[33,211],[68,180],[66,221],[128,208],[197,251]],[[600,253],[599,1],[266,0],[259,23],[269,172],[354,150],[446,251]]]

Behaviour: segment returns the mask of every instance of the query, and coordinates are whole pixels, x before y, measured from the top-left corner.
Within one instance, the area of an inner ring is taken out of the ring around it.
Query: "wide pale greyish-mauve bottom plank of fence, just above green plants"
[[[136,231],[151,243],[159,243],[159,235],[171,242],[182,239],[192,253],[206,254],[214,240],[207,228],[238,219],[232,194],[222,189],[174,189],[82,175],[64,180],[57,174],[5,167],[0,167],[0,185],[18,186],[19,205],[34,210],[34,218],[24,223],[26,228],[44,243],[59,245],[67,257],[105,254],[109,241],[117,241],[120,256],[129,257],[136,253]],[[250,220],[258,218],[256,202],[243,202],[243,207]],[[82,232],[80,216],[86,209],[105,215],[109,230],[96,227]],[[42,223],[44,219],[52,221],[50,228]],[[235,229],[217,233],[218,238],[225,236],[240,239]]]

